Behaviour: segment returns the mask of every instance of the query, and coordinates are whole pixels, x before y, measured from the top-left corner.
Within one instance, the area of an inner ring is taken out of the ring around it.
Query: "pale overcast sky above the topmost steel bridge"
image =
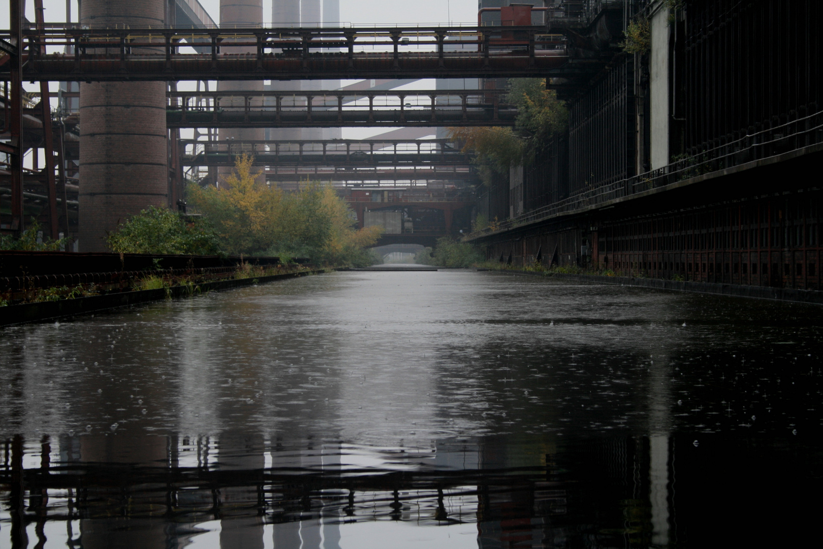
[[[134,0],[139,2],[140,0]],[[45,20],[65,21],[65,0],[44,0]],[[217,20],[220,0],[200,0],[206,11]],[[8,2],[0,2],[0,26],[8,28]],[[26,16],[35,20],[35,2],[26,0]],[[378,23],[471,23],[477,21],[477,0],[340,0],[340,18],[354,25]],[[72,0],[72,18],[77,21],[77,0]],[[263,18],[272,20],[272,0],[263,0]]]

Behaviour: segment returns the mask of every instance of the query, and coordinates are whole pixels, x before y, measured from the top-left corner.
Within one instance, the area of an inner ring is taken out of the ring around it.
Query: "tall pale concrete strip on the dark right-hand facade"
[[[652,170],[669,163],[669,9],[659,2],[651,21],[652,51],[649,55],[649,128]]]

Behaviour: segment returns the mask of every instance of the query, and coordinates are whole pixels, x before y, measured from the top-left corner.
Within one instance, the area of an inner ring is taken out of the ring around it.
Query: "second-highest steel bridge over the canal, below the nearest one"
[[[170,92],[169,128],[514,126],[504,90]]]

